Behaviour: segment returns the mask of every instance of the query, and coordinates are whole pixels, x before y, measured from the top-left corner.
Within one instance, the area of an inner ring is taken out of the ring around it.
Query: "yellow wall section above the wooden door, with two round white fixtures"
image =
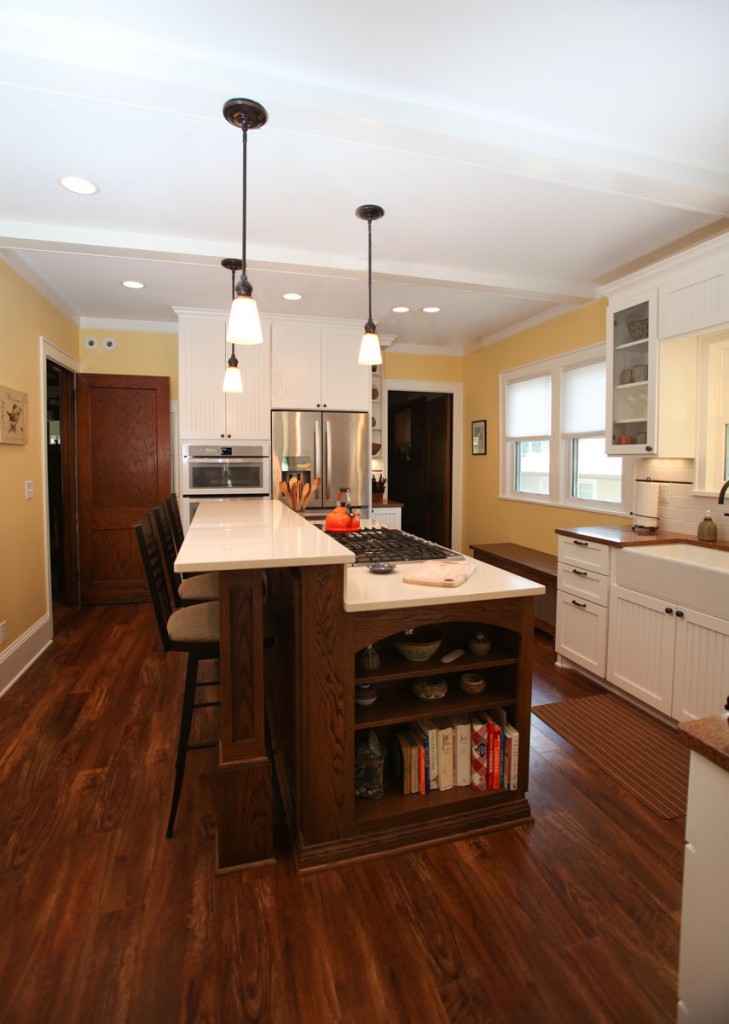
[[[87,348],[87,338],[95,338],[98,348]],[[117,347],[104,348],[106,338],[113,338]],[[177,334],[101,328],[81,331],[79,340],[82,373],[169,377],[170,398],[172,401],[177,400]]]

